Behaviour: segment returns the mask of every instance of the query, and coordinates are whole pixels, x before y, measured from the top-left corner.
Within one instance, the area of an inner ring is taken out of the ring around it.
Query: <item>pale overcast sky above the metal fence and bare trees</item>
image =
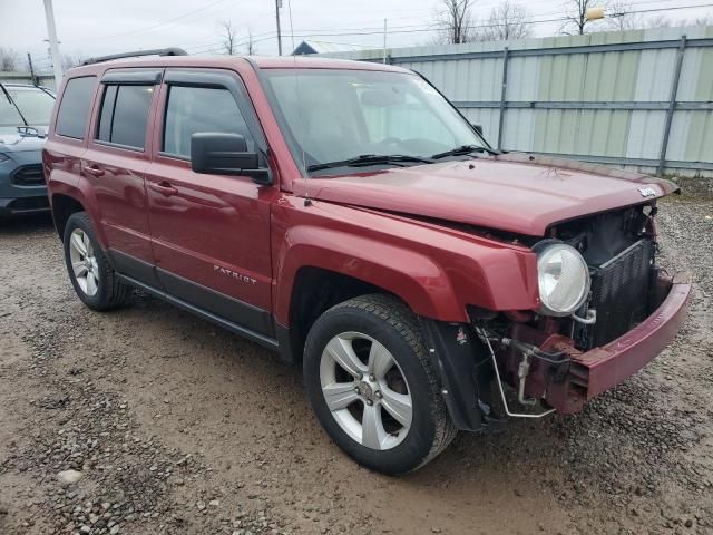
[[[433,21],[442,0],[282,0],[283,50],[292,51],[290,1],[294,43],[322,41],[381,47],[388,19],[390,47],[424,45],[434,38]],[[511,0],[525,6],[531,20],[561,17],[566,0]],[[672,20],[713,14],[713,0],[625,0],[634,10],[662,10],[646,17]],[[485,19],[500,0],[476,0],[473,14]],[[53,0],[60,52],[90,57],[124,50],[182,47],[191,54],[219,52],[219,21],[231,20],[244,41],[252,29],[257,54],[276,54],[273,0]],[[683,6],[704,8],[674,10]],[[597,22],[602,25],[603,22]],[[536,36],[557,33],[560,22],[533,25]],[[0,47],[25,58],[31,52],[40,69],[48,69],[47,27],[42,0],[0,0]],[[242,52],[242,47],[240,48]]]

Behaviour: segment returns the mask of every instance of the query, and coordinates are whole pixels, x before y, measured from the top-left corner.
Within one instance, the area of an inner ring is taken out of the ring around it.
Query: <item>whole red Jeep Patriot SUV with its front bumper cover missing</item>
[[[137,288],[301,362],[374,470],[576,412],[685,318],[687,276],[655,263],[670,182],[494,150],[402,68],[108,59],[67,74],[43,152],[77,295]]]

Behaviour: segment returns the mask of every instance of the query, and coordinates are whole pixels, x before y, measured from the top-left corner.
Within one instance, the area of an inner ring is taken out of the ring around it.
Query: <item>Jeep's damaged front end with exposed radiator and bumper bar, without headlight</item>
[[[586,262],[590,279],[586,295],[577,310],[566,314],[550,312],[545,304],[537,311],[505,313],[470,308],[471,324],[461,325],[467,343],[459,346],[460,352],[466,347],[470,351],[469,370],[453,364],[458,359],[451,356],[452,340],[441,333],[439,342],[438,331],[446,328],[427,325],[431,357],[441,377],[448,378],[445,390],[456,390],[452,393],[459,398],[472,396],[468,401],[461,398],[461,407],[451,407],[458,403],[448,399],[450,391],[445,393],[451,415],[453,410],[467,415],[456,421],[459,427],[487,425],[496,419],[496,405],[516,417],[577,412],[673,340],[685,319],[691,281],[685,274],[667,275],[656,265],[655,213],[651,203],[550,228],[548,242],[573,247]],[[533,249],[537,251],[541,242]],[[449,369],[453,366],[460,367],[457,376]],[[466,392],[468,380],[473,388]],[[504,383],[515,390],[509,402]],[[499,390],[496,402],[487,385]],[[540,403],[544,408],[538,411],[526,409]]]

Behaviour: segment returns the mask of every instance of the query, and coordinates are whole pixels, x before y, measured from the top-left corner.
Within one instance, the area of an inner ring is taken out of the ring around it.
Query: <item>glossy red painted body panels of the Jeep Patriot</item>
[[[403,70],[305,58],[254,61],[265,69]],[[467,322],[466,308],[477,305],[514,311],[510,318],[524,321],[529,312],[516,311],[539,304],[533,251],[443,227],[438,220],[545,236],[561,221],[649,202],[652,197],[638,191],[643,185],[654,188],[656,196],[675,189],[666,181],[634,173],[512,154],[304,179],[247,60],[141,59],[81,67],[69,76],[100,79],[110,68],[126,67],[225,69],[242,80],[270,147],[274,184],[258,185],[247,176],[198,175],[188,162],[160,155],[167,91],[157,86],[144,152],[92,140],[99,91],[85,142],[50,129],[43,156],[50,198],[61,194],[80,202],[104,247],[268,310],[284,325],[294,321],[293,286],[305,266],[380,286],[424,317]],[[64,89],[62,85],[60,95]],[[236,284],[226,271],[254,282]],[[604,348],[573,352],[579,371],[588,371],[586,392],[579,398],[589,399],[651,360],[677,331],[688,290],[688,284],[674,284],[666,301],[636,329]],[[556,332],[556,321],[550,320],[546,331]],[[539,337],[540,342],[547,338],[545,332]],[[569,397],[569,391],[555,392],[548,401],[573,411],[580,405]]]

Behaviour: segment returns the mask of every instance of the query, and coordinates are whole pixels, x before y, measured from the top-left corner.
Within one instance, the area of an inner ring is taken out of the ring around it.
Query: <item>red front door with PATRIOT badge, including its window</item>
[[[167,69],[160,93],[146,174],[157,275],[170,295],[272,335],[270,211],[276,187],[191,168],[194,133],[241,134],[250,150],[266,148],[245,88],[232,71]]]

